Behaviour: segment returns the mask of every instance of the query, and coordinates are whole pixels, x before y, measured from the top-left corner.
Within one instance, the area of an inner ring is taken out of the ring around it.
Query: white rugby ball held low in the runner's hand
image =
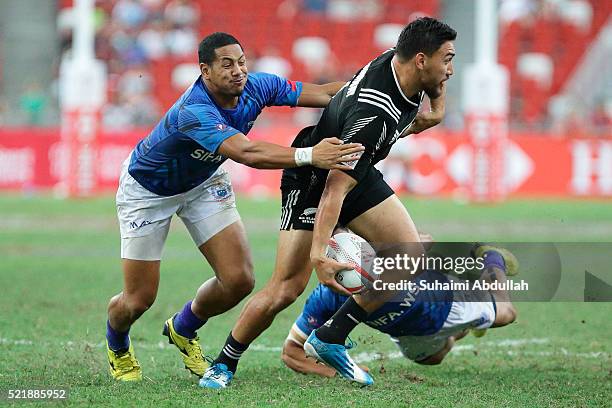
[[[359,235],[341,232],[329,239],[325,255],[353,269],[336,273],[336,282],[351,293],[359,293],[372,287],[374,282],[371,266],[376,257],[372,246]]]

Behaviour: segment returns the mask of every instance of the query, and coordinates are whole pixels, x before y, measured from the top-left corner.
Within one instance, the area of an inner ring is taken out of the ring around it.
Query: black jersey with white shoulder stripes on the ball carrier
[[[391,62],[394,55],[388,50],[357,72],[332,98],[314,130],[300,133],[292,146],[314,146],[326,137],[361,143],[365,151],[346,172],[357,181],[387,157],[414,121],[425,95],[404,95]]]

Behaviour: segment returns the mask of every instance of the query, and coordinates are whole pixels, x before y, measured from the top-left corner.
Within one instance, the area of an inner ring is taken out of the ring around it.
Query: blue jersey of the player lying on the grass
[[[441,283],[448,281],[438,272],[422,273],[414,280],[416,283],[414,292],[406,291],[396,300],[385,303],[368,316],[365,324],[393,337],[437,333],[448,317],[453,303],[453,293],[419,291],[419,282],[423,280],[437,280]],[[306,300],[304,310],[295,322],[297,327],[308,336],[329,320],[346,299],[348,299],[346,296],[319,284]]]

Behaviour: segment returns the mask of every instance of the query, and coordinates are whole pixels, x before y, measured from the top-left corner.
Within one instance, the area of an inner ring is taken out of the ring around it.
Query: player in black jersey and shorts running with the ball
[[[332,98],[319,123],[299,133],[294,147],[306,148],[323,138],[338,136],[345,142],[361,143],[365,151],[349,163],[351,170],[321,171],[304,166],[283,172],[274,273],[244,306],[200,385],[229,385],[242,353],[270,326],[276,314],[304,291],[313,268],[321,283],[348,295],[334,276],[350,265],[325,256],[337,224],[348,226],[371,242],[412,243],[403,252],[422,255],[410,215],[374,165],[387,157],[400,138],[441,121],[445,81],[453,74],[455,38],[455,30],[433,18],[408,24],[396,47],[357,72]],[[432,111],[419,112],[425,95]],[[387,275],[390,279],[406,278],[401,271],[389,271]],[[371,384],[372,378],[353,363],[344,342],[357,324],[387,300],[388,296],[380,293],[350,297],[326,324],[312,332],[304,346],[306,354],[332,366],[345,378]]]

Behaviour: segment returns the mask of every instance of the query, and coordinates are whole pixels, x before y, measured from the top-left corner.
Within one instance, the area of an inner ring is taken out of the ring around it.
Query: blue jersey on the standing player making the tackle
[[[247,134],[265,106],[295,106],[302,83],[253,73],[233,109],[219,107],[202,78],[185,91],[134,149],[128,171],[147,190],[171,196],[200,185],[226,160],[227,138]]]

